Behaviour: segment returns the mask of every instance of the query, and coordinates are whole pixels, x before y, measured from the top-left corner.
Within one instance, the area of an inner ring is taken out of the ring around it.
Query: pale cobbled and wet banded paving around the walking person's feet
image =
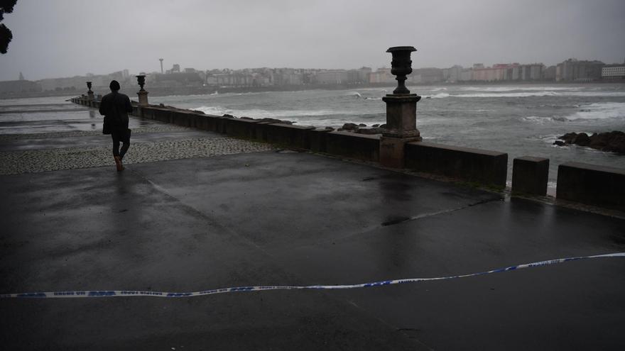
[[[13,113],[16,108],[19,113]],[[129,127],[132,146],[124,159],[129,165],[273,149],[140,118],[131,118]],[[111,145],[94,108],[69,103],[0,106],[0,175],[114,165]]]

